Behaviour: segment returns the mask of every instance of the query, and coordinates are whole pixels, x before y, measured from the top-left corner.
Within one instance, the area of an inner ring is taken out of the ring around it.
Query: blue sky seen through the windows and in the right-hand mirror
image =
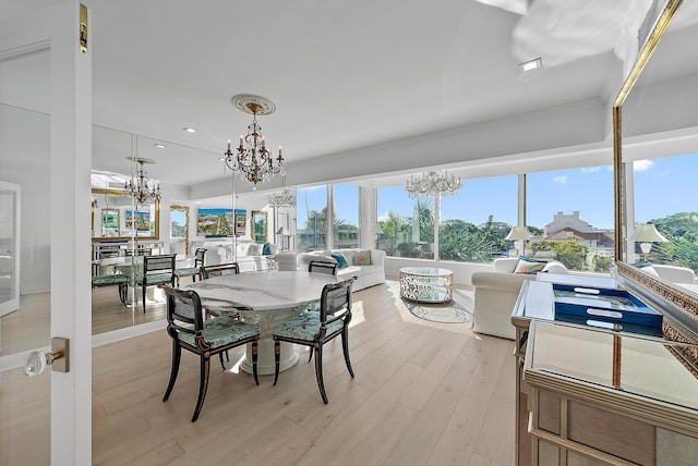
[[[636,217],[638,222],[679,211],[698,211],[698,160],[695,155],[664,157],[635,162]],[[308,209],[326,204],[326,186],[298,192],[298,226],[305,224]],[[460,192],[442,199],[442,220],[464,219],[483,223],[490,214],[495,221],[516,224],[517,176],[462,180]],[[346,199],[351,199],[347,201]],[[611,165],[556,170],[527,175],[527,224],[543,228],[562,211],[579,211],[583,221],[599,229],[613,229],[613,168]],[[335,206],[340,219],[359,223],[358,188],[335,185]],[[388,210],[412,214],[413,200],[404,185],[378,189],[378,218]]]

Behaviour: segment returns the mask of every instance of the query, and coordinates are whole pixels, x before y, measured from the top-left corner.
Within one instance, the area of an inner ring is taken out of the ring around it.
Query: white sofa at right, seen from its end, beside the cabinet
[[[516,331],[512,324],[512,311],[526,280],[535,280],[535,273],[514,273],[518,258],[494,260],[494,271],[474,272],[471,277],[476,289],[476,305],[472,329],[478,333],[514,340]],[[556,260],[547,262],[547,271],[569,273]]]

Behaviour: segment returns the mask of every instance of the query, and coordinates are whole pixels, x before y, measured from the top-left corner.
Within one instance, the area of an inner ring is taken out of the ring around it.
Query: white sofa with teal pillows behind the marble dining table
[[[279,270],[308,270],[308,265],[311,260],[323,260],[327,262],[337,262],[337,260],[330,256],[330,254],[341,254],[347,258],[348,267],[344,269],[337,269],[337,277],[341,280],[356,277],[352,290],[359,291],[369,286],[385,283],[385,250],[381,249],[368,249],[371,250],[371,265],[370,266],[354,266],[354,254],[359,250],[366,250],[362,248],[352,249],[332,249],[316,250],[312,253],[279,253],[275,259],[278,262]]]

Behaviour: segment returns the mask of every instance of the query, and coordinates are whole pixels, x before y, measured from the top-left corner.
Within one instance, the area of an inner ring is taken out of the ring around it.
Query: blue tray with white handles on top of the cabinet
[[[553,284],[555,318],[577,316],[602,322],[662,328],[662,315],[625,290]]]

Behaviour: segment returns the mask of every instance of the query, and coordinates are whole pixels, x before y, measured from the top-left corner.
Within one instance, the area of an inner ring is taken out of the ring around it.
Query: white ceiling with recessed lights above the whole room
[[[0,20],[51,3],[0,0]],[[311,159],[337,179],[329,161],[340,154],[590,99],[610,109],[628,32],[649,1],[85,3],[94,169],[128,173],[133,133],[137,155],[156,161],[147,167],[152,177],[195,191],[221,183],[227,139],[237,140],[251,122],[230,103],[237,94],[276,105],[258,121],[267,144],[284,146],[291,182],[293,167]],[[697,2],[684,3],[696,13]],[[524,76],[518,64],[537,57],[544,69]],[[46,111],[46,63],[35,56],[1,64],[0,77],[12,84],[2,85],[0,101]],[[168,147],[156,149],[157,142]],[[440,162],[438,155],[422,159]],[[392,167],[399,170],[399,160]]]

